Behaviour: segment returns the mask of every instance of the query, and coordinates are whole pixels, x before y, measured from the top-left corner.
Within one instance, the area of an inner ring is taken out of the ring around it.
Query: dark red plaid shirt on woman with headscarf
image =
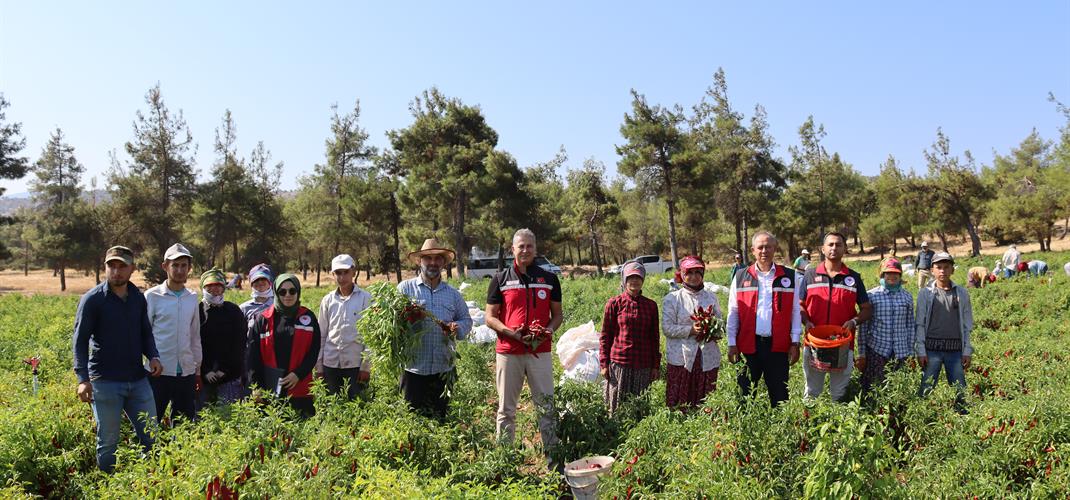
[[[633,368],[656,368],[661,364],[658,334],[658,304],[643,296],[621,293],[606,303],[598,362],[610,361]]]

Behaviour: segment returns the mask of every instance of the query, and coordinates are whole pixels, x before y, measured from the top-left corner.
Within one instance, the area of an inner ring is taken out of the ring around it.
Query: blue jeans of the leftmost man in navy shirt
[[[96,379],[93,384],[93,419],[96,420],[96,467],[111,472],[116,467],[116,448],[123,412],[134,424],[141,448],[152,449],[151,433],[156,429],[156,400],[149,380],[133,382]]]

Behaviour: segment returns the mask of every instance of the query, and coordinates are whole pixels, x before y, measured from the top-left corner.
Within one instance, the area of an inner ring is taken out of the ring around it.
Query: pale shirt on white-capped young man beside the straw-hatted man
[[[356,331],[356,320],[371,304],[371,293],[353,285],[353,291],[342,297],[336,288],[320,301],[320,358],[317,370],[328,368],[361,368],[371,370],[371,357],[365,355],[367,348],[361,332]]]

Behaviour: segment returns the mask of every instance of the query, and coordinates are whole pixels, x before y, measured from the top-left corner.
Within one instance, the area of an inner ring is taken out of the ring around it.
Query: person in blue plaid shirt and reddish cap
[[[913,354],[914,297],[903,288],[903,266],[896,258],[881,262],[881,284],[867,294],[873,317],[858,325],[855,367],[862,370],[862,393],[884,383],[887,368],[898,369]]]

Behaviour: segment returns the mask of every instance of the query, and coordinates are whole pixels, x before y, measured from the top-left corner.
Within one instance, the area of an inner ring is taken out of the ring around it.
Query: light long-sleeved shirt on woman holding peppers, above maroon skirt
[[[669,292],[661,300],[661,333],[666,336],[666,362],[683,366],[688,372],[694,365],[694,358],[702,355],[702,369],[710,370],[721,366],[721,348],[716,342],[699,344],[691,336],[691,315],[698,307],[714,306],[714,315],[723,317],[717,294],[702,289],[691,291],[687,287]]]

